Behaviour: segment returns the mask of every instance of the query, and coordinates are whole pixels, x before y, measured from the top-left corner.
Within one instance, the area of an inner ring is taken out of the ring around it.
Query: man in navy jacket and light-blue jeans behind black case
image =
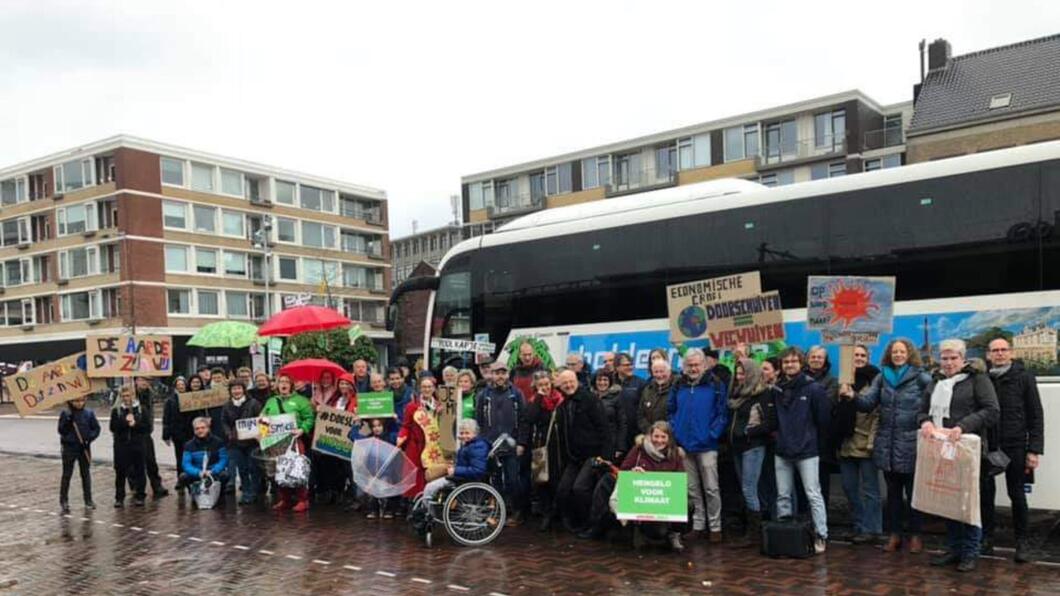
[[[795,472],[798,471],[810,502],[813,527],[817,533],[814,549],[825,551],[828,541],[828,509],[820,493],[818,461],[818,430],[831,423],[832,404],[810,375],[803,372],[806,355],[796,347],[780,354],[781,390],[776,397],[776,407],[770,410],[770,427],[776,432],[777,516],[792,514],[792,494],[795,492]]]

